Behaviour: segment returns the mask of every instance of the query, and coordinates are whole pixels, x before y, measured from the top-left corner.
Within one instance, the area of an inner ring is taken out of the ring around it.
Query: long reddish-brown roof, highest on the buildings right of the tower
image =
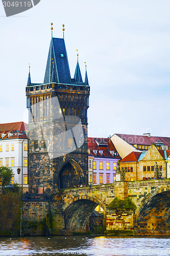
[[[163,145],[167,145],[170,147],[169,137],[151,136],[151,138],[149,138],[146,135],[130,135],[130,134],[116,134],[116,135],[132,145],[135,145],[135,144],[151,145],[152,143],[155,144],[155,143],[163,142]]]

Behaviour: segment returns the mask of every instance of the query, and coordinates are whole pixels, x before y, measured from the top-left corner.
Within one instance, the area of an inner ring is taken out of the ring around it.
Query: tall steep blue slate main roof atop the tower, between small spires
[[[44,83],[50,83],[52,81],[53,62],[56,82],[70,84],[71,76],[69,71],[65,42],[63,38],[53,37],[51,39],[44,76]]]

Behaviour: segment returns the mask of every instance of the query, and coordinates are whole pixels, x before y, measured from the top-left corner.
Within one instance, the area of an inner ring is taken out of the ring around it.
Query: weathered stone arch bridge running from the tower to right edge
[[[53,200],[23,201],[22,219],[42,221],[50,209],[51,234],[83,233],[98,205],[104,210],[106,235],[170,235],[169,179],[60,189]]]

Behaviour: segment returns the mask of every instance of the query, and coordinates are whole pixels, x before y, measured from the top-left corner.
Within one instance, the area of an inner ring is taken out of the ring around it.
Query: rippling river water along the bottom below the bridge
[[[0,255],[170,255],[169,237],[56,236],[0,238]]]

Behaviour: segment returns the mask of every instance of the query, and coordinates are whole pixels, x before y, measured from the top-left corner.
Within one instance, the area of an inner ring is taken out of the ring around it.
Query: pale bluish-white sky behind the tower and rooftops
[[[6,17],[0,3],[0,122],[26,121],[29,62],[43,82],[53,36],[62,37],[71,77],[87,63],[91,88],[88,136],[114,133],[170,137],[170,1],[41,0]]]

